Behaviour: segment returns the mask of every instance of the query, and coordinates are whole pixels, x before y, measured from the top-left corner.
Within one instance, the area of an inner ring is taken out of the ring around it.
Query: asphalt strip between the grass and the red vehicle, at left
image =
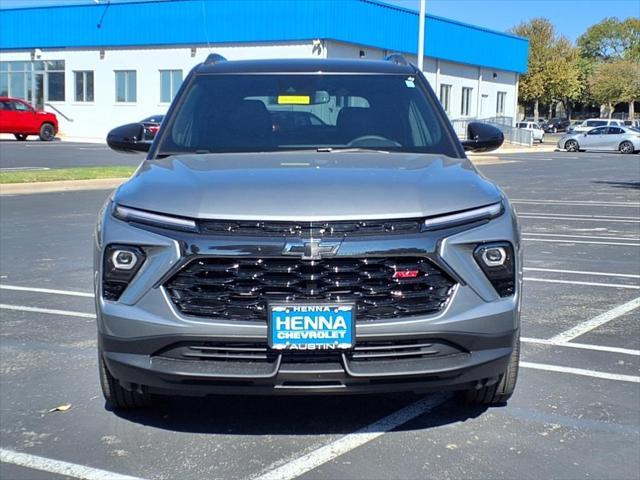
[[[141,154],[116,153],[103,143],[0,140],[0,171],[22,168],[137,166]]]

